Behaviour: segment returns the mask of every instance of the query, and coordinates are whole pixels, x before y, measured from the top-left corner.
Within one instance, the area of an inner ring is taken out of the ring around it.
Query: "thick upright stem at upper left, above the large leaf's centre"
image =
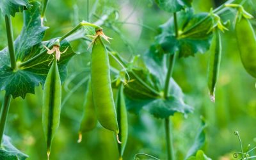
[[[5,24],[6,24],[6,34],[7,34],[7,40],[8,40],[8,49],[9,49],[9,55],[10,55],[11,68],[15,70],[16,60],[15,60],[15,51],[14,51],[14,44],[13,44],[12,20],[11,20],[11,17],[8,15],[5,15]]]

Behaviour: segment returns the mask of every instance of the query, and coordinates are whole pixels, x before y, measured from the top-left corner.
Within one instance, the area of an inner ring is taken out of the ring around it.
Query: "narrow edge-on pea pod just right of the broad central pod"
[[[128,120],[127,120],[127,110],[125,107],[124,99],[124,85],[120,84],[118,88],[118,93],[116,95],[116,112],[117,121],[119,127],[119,137],[122,143],[118,143],[119,159],[121,160],[124,154],[125,146],[128,138]]]

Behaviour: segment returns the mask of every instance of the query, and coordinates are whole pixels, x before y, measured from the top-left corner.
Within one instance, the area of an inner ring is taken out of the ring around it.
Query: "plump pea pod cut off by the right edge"
[[[236,37],[243,66],[248,74],[256,77],[256,39],[248,19],[236,23]]]

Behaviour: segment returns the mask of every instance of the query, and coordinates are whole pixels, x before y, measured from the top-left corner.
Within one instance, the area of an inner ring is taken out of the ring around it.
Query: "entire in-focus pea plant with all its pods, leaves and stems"
[[[111,47],[111,38],[104,34],[103,27],[116,29],[108,17],[100,24],[83,20],[67,34],[43,41],[48,28],[45,26],[48,3],[54,2],[0,1],[8,40],[8,46],[0,51],[0,88],[5,91],[0,115],[0,159],[28,158],[12,145],[10,137],[4,135],[4,127],[11,99],[25,99],[27,93],[35,94],[35,87],[40,84],[44,90],[42,128],[47,158],[50,159],[54,135],[60,125],[61,85],[67,77],[68,61],[77,54],[70,45],[71,39],[83,39],[91,52],[90,77],[78,131],[79,143],[83,134],[92,131],[99,122],[105,129],[113,131],[119,159],[123,159],[129,141],[127,111],[138,114],[144,109],[164,121],[166,154],[154,157],[150,153],[138,153],[134,159],[210,159],[202,150],[205,143],[204,118],[188,154],[175,156],[170,117],[175,113],[186,116],[193,112],[193,107],[186,104],[184,93],[172,73],[179,58],[209,51],[207,79],[210,99],[214,102],[222,54],[221,36],[235,29],[243,66],[248,74],[256,77],[255,33],[250,24],[252,15],[243,8],[245,1],[229,0],[209,12],[194,13],[192,1],[156,0],[161,10],[170,13],[170,19],[159,25],[159,33],[154,43],[148,44],[145,54],[133,56],[132,60],[123,58]],[[17,12],[23,12],[24,24],[20,35],[13,40],[11,17],[15,17]],[[225,19],[223,15],[227,14],[232,18]],[[118,67],[111,66],[109,59],[115,60]],[[138,61],[141,63],[136,63]],[[242,159],[250,159],[246,153],[243,149],[239,153]]]

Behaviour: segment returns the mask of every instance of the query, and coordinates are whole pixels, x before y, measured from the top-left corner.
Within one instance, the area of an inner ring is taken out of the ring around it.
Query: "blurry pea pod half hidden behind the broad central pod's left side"
[[[88,89],[86,92],[86,102],[84,105],[84,114],[81,121],[80,129],[79,129],[79,140],[78,143],[82,141],[83,132],[91,131],[97,125],[97,116],[95,115],[95,109],[93,106],[93,98],[92,98],[92,84],[91,81],[88,81]]]

